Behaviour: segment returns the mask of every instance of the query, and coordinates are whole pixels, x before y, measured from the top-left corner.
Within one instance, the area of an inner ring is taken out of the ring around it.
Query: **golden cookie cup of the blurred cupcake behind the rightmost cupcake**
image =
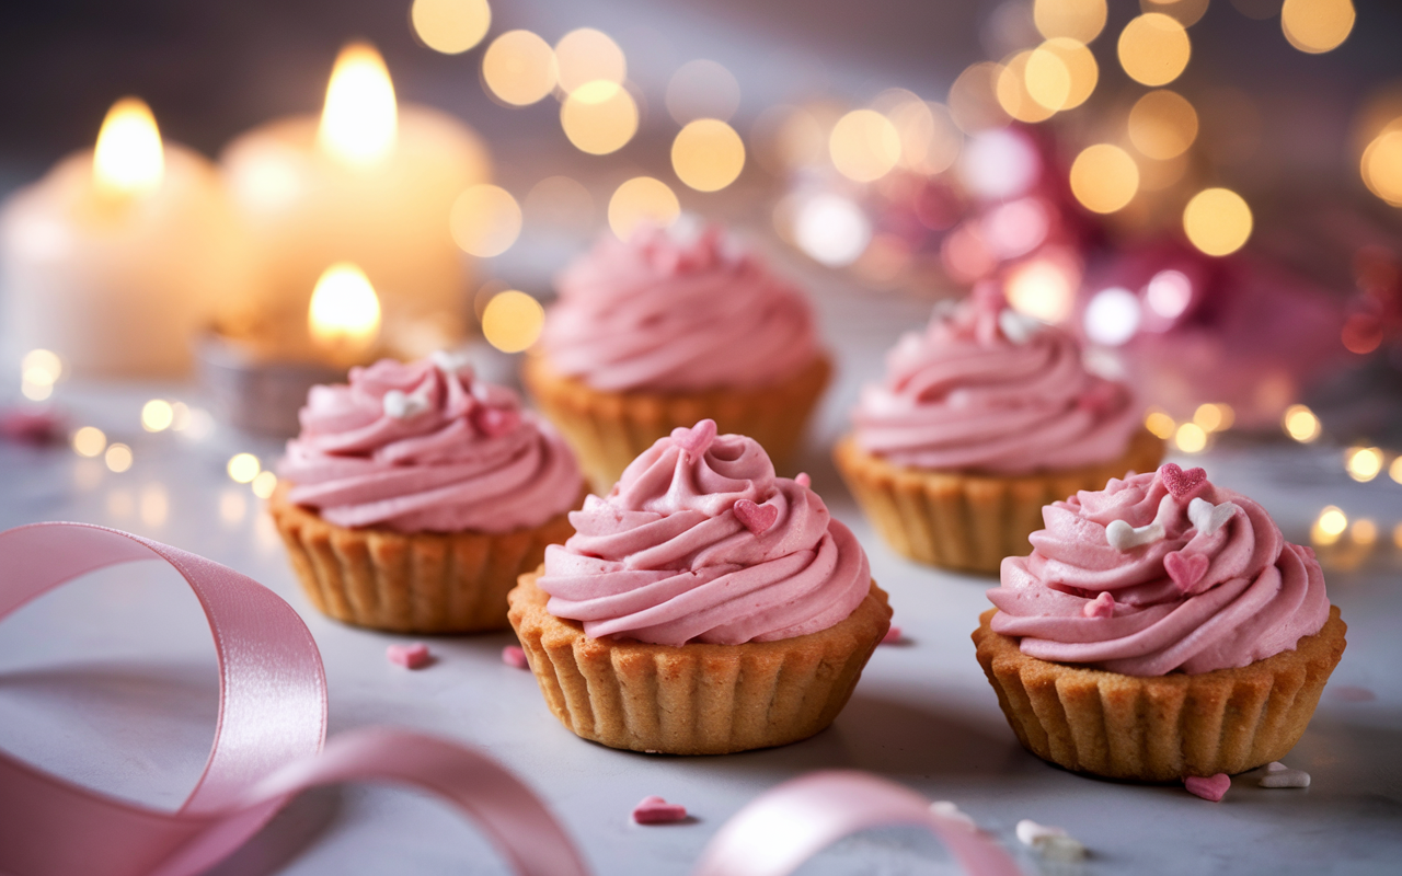
[[[1042,528],[1042,506],[1082,489],[1105,489],[1110,478],[1154,471],[1164,440],[1140,430],[1109,463],[1002,477],[934,471],[887,463],[848,434],[833,450],[866,519],[896,552],[934,566],[995,575],[1004,556],[1028,552]]]

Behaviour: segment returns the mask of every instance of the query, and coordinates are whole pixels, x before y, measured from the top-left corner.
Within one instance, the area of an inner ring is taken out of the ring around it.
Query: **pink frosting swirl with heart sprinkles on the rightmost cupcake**
[[[1196,674],[1293,650],[1329,620],[1314,551],[1202,468],[1169,463],[1042,514],[1032,555],[1004,559],[988,591],[994,632],[1021,636],[1025,655]]]

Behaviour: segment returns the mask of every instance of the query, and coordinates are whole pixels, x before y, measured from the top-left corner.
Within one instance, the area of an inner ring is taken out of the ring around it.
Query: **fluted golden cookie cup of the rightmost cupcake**
[[[1305,732],[1347,627],[1323,628],[1239,669],[1189,676],[1122,676],[1029,657],[993,632],[995,608],[973,634],[979,664],[1022,746],[1071,769],[1115,779],[1228,775],[1283,758]]]

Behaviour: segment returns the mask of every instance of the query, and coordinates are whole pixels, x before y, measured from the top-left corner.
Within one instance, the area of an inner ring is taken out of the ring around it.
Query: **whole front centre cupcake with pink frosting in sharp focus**
[[[726,754],[833,722],[890,627],[808,478],[712,420],[638,457],[510,593],[551,712],[634,751]]]

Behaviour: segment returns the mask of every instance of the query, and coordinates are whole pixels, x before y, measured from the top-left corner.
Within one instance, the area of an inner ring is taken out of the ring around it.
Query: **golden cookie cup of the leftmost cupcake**
[[[541,563],[545,545],[575,534],[568,512],[499,534],[346,528],[287,502],[285,485],[268,512],[311,604],[338,621],[388,632],[505,629],[516,577]]]

